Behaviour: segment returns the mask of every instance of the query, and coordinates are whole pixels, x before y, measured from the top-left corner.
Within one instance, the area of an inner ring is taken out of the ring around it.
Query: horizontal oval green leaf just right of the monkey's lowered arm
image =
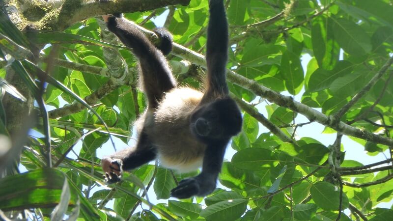
[[[268,149],[246,148],[232,157],[232,164],[241,169],[269,169],[278,164],[276,154]]]

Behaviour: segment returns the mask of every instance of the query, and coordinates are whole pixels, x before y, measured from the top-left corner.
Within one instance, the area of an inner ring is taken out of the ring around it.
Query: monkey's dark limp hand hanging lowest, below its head
[[[184,179],[170,191],[170,195],[179,199],[189,198],[194,195],[205,196],[216,189],[216,179],[206,174]]]

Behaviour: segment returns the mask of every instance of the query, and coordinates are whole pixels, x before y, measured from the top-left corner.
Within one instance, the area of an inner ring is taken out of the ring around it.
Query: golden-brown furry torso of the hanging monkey
[[[206,145],[190,130],[191,112],[202,96],[202,92],[192,88],[175,88],[166,94],[154,112],[147,113],[150,116],[146,115],[144,126],[158,150],[162,166],[187,172],[202,165]]]

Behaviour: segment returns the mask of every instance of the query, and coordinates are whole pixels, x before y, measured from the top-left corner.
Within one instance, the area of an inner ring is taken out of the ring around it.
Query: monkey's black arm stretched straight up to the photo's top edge
[[[207,91],[205,97],[228,94],[226,62],[228,59],[228,23],[223,0],[209,0],[210,19],[207,28]],[[214,97],[214,96],[213,96]]]

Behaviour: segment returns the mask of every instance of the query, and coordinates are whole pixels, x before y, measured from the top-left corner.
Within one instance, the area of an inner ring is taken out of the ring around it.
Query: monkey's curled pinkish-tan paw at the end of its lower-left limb
[[[105,172],[103,175],[105,182],[112,184],[120,181],[121,163],[121,160],[110,157],[104,157],[101,160],[102,170]]]

